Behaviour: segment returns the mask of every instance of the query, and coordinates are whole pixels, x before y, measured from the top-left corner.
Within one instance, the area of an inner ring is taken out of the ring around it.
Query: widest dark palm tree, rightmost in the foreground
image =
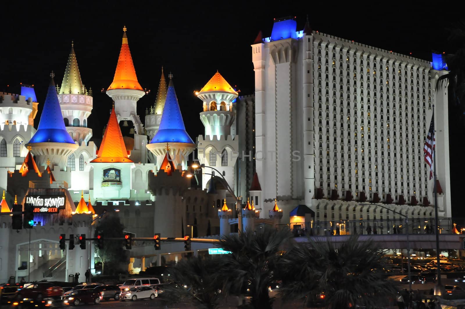
[[[310,241],[283,256],[281,295],[302,299],[306,305],[322,302],[326,308],[347,309],[382,305],[395,296],[396,283],[385,273],[384,251],[371,241],[352,236],[339,248],[330,242]]]

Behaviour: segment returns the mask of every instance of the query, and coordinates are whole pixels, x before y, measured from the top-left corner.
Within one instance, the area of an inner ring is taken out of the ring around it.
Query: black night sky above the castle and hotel
[[[100,89],[113,81],[123,25],[140,85],[151,90],[138,102],[141,121],[146,107],[153,105],[163,66],[166,78],[173,73],[186,130],[194,140],[203,133],[203,125],[202,102],[193,91],[219,70],[226,81],[237,85],[240,95],[253,94],[250,45],[259,30],[264,36],[271,34],[273,18],[296,16],[300,30],[308,14],[313,30],[425,60],[431,60],[432,50],[454,53],[459,46],[448,41],[447,29],[464,27],[453,14],[441,15],[441,7],[406,7],[405,1],[379,7],[350,1],[343,7],[315,6],[312,1],[306,1],[307,7],[284,1],[279,5],[272,1],[14,2],[18,4],[1,7],[0,91],[19,93],[20,82],[34,84],[40,102],[37,127],[49,74],[53,70],[55,82],[61,84],[74,40],[82,82],[93,89],[88,127],[95,139],[101,139],[112,106]],[[465,217],[460,193],[464,124],[452,104],[449,114],[452,210],[454,217]]]

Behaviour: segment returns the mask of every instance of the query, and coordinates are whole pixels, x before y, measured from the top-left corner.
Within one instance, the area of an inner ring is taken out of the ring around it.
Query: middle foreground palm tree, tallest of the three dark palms
[[[268,287],[279,280],[279,259],[291,233],[262,226],[256,231],[246,230],[237,235],[221,237],[219,247],[231,252],[220,257],[219,278],[228,293],[252,296],[252,308],[271,309]]]

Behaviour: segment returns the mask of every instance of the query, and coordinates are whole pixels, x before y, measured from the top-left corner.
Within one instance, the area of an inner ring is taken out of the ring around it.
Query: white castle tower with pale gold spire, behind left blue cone
[[[74,53],[74,44],[71,43],[71,52],[58,94],[58,101],[66,131],[80,146],[87,145],[92,137],[92,129],[87,128],[87,118],[93,107],[92,94],[89,94],[82,84],[78,61]]]

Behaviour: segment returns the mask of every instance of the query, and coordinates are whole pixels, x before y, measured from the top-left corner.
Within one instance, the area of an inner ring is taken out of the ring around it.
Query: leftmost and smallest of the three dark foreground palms
[[[182,259],[168,271],[163,296],[169,304],[185,303],[199,309],[216,309],[221,297],[218,262],[196,256]]]

